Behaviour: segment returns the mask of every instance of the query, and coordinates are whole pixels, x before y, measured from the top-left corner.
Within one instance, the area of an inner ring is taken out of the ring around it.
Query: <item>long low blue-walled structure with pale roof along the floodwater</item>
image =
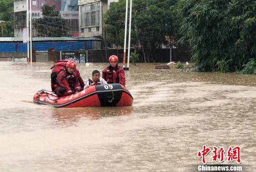
[[[81,49],[93,50],[99,38],[75,38],[75,37],[33,37],[32,49],[35,51],[35,61],[48,61],[49,50],[56,52],[69,52],[71,54],[79,52]],[[66,54],[66,53],[65,53]],[[68,55],[67,55],[68,56]],[[63,56],[64,57],[64,56]],[[20,60],[18,60],[20,59]],[[21,37],[0,37],[0,61],[18,60],[27,61],[27,44],[23,43]]]

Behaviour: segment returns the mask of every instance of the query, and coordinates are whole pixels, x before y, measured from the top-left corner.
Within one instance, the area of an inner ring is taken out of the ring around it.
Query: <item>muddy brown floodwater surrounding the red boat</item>
[[[203,144],[241,146],[242,164],[255,171],[256,75],[138,64],[126,72],[132,107],[55,109],[32,103],[50,90],[53,63],[0,65],[1,172],[195,171]],[[86,80],[105,66],[78,69]],[[224,163],[232,164],[226,153]]]

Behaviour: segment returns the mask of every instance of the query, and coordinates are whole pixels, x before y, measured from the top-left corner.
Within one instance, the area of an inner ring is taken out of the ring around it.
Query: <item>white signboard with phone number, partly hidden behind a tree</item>
[[[79,11],[60,11],[60,15],[64,19],[79,19]],[[43,17],[42,11],[32,10],[32,18]]]

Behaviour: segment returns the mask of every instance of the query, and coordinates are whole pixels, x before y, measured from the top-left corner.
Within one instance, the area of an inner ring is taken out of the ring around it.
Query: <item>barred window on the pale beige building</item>
[[[100,3],[81,6],[81,27],[100,25]]]

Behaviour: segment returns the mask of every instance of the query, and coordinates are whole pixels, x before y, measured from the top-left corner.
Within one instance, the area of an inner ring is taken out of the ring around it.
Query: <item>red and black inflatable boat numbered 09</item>
[[[34,95],[34,102],[52,105],[56,108],[132,106],[133,97],[120,84],[91,86],[79,93],[58,97],[54,92],[40,90]]]

